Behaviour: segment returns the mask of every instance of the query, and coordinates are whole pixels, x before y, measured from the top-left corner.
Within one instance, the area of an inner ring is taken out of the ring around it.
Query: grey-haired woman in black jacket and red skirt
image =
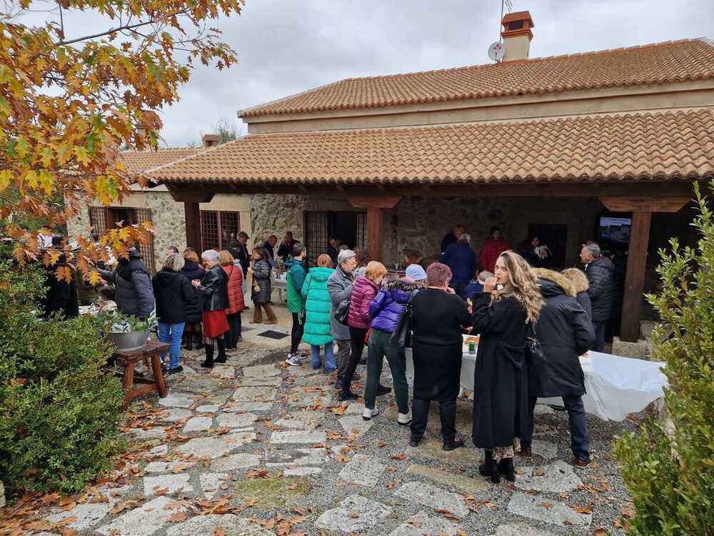
[[[191,284],[201,294],[201,311],[203,311],[203,344],[206,347],[206,360],[201,363],[201,367],[213,368],[213,339],[218,345],[218,357],[216,363],[226,362],[226,343],[223,334],[231,328],[228,326],[228,276],[223,271],[219,260],[218,252],[215,249],[208,249],[201,253],[203,267],[206,274],[201,281],[193,279]]]

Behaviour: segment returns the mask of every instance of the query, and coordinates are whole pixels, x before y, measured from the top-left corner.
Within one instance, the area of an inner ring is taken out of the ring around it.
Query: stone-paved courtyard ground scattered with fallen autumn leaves
[[[590,417],[595,462],[575,470],[567,416],[539,406],[535,458],[516,459],[515,485],[493,485],[468,446],[467,399],[457,413],[467,447],[441,450],[435,403],[422,445],[411,448],[391,395],[366,422],[360,400],[336,401],[333,377],[284,357],[248,342],[207,372],[190,352],[168,397],[132,405],[117,470],[41,510],[50,532],[34,534],[604,535],[626,522],[631,505],[610,442],[635,417]]]

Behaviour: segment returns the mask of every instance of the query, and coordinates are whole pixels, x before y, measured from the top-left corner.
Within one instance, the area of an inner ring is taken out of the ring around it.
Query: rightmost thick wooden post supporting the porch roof
[[[642,294],[645,286],[651,219],[652,212],[636,211],[632,213],[623,317],[622,324],[620,324],[620,339],[626,342],[637,342],[640,337],[640,312],[642,311]]]

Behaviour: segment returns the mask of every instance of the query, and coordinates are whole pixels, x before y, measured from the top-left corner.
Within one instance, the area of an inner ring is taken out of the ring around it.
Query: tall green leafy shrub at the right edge
[[[711,185],[714,192],[714,183]],[[660,251],[661,294],[649,295],[663,322],[653,332],[653,355],[667,364],[665,407],[670,423],[648,422],[617,438],[637,513],[632,535],[714,534],[714,215],[695,186],[698,247]]]

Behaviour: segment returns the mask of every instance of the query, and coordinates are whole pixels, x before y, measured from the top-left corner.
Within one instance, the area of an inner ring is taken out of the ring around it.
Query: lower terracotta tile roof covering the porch
[[[714,111],[251,134],[154,169],[164,182],[466,183],[714,177]]]

